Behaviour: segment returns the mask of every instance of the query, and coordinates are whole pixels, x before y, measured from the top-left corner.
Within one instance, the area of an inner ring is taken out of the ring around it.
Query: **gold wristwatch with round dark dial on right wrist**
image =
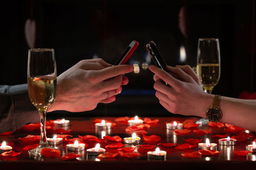
[[[211,121],[211,122],[220,122],[222,118],[222,111],[220,109],[220,100],[221,96],[220,95],[215,95],[213,99],[213,103],[205,111],[206,118]]]

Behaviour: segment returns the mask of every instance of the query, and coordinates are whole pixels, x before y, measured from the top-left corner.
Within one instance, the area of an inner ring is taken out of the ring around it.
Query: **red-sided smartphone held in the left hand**
[[[121,57],[119,57],[118,60],[116,60],[114,65],[117,66],[120,64],[125,64],[125,62],[127,62],[127,60],[131,57],[132,53],[136,50],[138,46],[139,46],[138,41],[136,40],[131,41],[129,46],[127,46],[124,53],[121,55]]]

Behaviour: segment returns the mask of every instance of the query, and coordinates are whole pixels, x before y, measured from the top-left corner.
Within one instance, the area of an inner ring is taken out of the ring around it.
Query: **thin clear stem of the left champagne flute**
[[[45,120],[46,120],[46,111],[39,111],[40,115],[40,146],[48,146],[46,131],[45,131]]]

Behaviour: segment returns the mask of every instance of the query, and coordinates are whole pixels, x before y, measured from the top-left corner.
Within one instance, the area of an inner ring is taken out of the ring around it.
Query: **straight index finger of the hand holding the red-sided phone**
[[[133,69],[134,67],[131,65],[106,67],[105,69],[95,71],[94,73],[95,81],[100,82],[121,74],[130,73],[133,71]]]

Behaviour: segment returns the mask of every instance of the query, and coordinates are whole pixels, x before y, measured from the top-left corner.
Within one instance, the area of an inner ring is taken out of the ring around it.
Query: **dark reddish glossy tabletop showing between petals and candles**
[[[211,143],[218,143],[220,138],[212,138],[213,134],[225,134],[224,128],[209,127],[204,125],[198,127],[199,129],[209,129],[212,131],[212,134],[206,134],[205,136],[196,136],[193,132],[189,135],[175,136],[170,130],[166,130],[165,122],[171,122],[172,120],[183,122],[186,119],[197,120],[195,117],[150,117],[151,119],[159,119],[159,123],[148,129],[148,136],[156,134],[161,137],[161,143],[177,143],[183,144],[186,143],[184,139],[188,138],[198,138],[203,139],[202,142],[205,142],[206,138],[209,138]],[[104,117],[105,120],[111,120],[115,122],[115,117]],[[95,125],[93,123],[95,118],[70,118],[71,135],[73,138],[77,138],[78,135],[84,136],[87,134],[92,134],[99,137],[99,134],[95,132]],[[116,127],[111,129],[109,136],[118,135],[121,138],[130,137],[131,134],[125,132],[127,125],[116,123]],[[253,132],[252,132],[253,133]],[[193,152],[197,151],[198,147],[189,149],[189,150],[176,150],[174,147],[166,148],[164,146],[159,146],[161,150],[166,150],[167,157],[166,160],[148,160],[147,155],[141,155],[135,159],[125,159],[121,157],[116,157],[114,159],[95,159],[86,156],[86,151],[81,152],[82,157],[77,158],[77,160],[63,161],[60,158],[45,158],[45,157],[29,157],[28,152],[22,150],[22,148],[28,143],[22,143],[18,139],[19,137],[25,137],[28,134],[39,135],[39,132],[33,131],[16,131],[9,136],[0,136],[0,142],[2,141],[12,141],[14,142],[13,150],[15,152],[22,152],[19,156],[13,157],[12,159],[0,161],[0,169],[12,169],[12,168],[26,168],[26,169],[56,169],[63,167],[65,169],[77,169],[77,168],[86,168],[86,169],[224,169],[224,168],[247,168],[255,169],[256,159],[252,153],[247,156],[241,157],[234,154],[233,151],[245,150],[246,145],[252,144],[253,139],[246,139],[246,141],[237,141],[235,146],[221,146],[218,145],[218,155],[212,157],[202,156],[200,158],[184,158],[181,156],[181,153],[184,152]],[[253,133],[254,134],[254,133]],[[47,136],[52,137],[51,133],[47,133]],[[230,134],[232,136],[232,134]],[[141,136],[142,138],[142,136]],[[143,144],[143,141],[141,142]],[[93,144],[95,145],[95,144]],[[92,148],[93,145],[88,146]],[[65,144],[58,146],[61,150],[61,155],[65,155],[68,151],[65,148]]]

